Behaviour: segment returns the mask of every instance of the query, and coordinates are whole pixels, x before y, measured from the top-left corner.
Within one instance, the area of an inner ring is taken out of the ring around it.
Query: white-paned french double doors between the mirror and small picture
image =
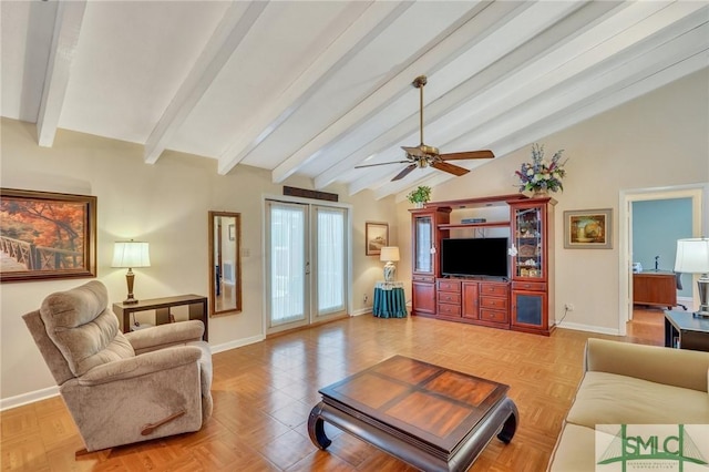
[[[267,331],[347,312],[348,211],[266,201]]]

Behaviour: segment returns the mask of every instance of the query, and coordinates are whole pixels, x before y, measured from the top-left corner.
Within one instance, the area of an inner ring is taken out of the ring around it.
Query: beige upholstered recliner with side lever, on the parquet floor
[[[197,431],[212,414],[202,321],[124,335],[97,280],[50,295],[23,319],[88,452]]]

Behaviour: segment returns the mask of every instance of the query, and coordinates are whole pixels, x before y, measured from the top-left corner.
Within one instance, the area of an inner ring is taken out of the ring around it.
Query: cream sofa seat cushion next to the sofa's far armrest
[[[569,423],[709,423],[707,392],[607,372],[586,372],[566,418]]]

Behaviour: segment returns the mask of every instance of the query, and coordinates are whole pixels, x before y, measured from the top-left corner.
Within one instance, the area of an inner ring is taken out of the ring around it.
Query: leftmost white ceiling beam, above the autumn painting
[[[52,45],[37,116],[37,141],[42,147],[52,147],[54,144],[85,10],[85,1],[59,2],[56,7]]]

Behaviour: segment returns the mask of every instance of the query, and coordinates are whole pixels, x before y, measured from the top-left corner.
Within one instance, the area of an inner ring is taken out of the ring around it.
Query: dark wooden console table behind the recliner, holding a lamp
[[[208,311],[207,297],[199,295],[178,295],[175,297],[152,298],[148,300],[140,300],[137,304],[113,304],[113,312],[123,320],[123,332],[131,330],[131,314],[136,311],[155,310],[155,325],[164,325],[171,322],[172,307],[188,306],[189,319],[198,319],[204,322],[203,339],[208,340]]]

